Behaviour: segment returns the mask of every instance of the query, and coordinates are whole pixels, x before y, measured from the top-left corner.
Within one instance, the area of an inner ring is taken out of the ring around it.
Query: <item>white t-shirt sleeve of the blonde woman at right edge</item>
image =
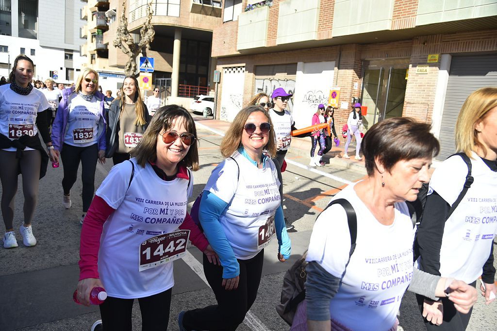
[[[428,194],[436,191],[451,206],[463,189],[468,166],[460,156],[448,158],[431,175]]]

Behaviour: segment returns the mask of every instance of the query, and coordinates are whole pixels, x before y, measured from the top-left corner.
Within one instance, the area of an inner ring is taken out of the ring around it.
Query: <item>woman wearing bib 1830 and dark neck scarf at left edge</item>
[[[48,156],[38,131],[46,144],[50,159],[58,161],[50,140],[45,111],[47,98],[33,88],[33,61],[25,55],[14,60],[10,84],[0,86],[0,180],[2,185],[1,213],[5,223],[3,247],[17,247],[13,228],[14,198],[17,176],[22,175],[24,224],[19,228],[24,246],[35,246],[31,221],[38,199],[38,183],[47,171]]]

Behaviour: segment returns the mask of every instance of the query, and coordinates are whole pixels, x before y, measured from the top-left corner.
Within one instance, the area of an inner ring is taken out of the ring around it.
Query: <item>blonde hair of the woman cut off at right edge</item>
[[[475,126],[495,107],[497,107],[497,87],[483,87],[468,96],[457,118],[455,133],[457,151],[464,152],[468,157],[471,157],[477,147],[485,151],[485,147],[478,140]]]

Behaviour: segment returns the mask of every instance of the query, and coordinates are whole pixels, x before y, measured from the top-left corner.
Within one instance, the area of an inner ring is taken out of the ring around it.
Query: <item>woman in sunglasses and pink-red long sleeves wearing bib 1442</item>
[[[142,330],[167,330],[171,262],[188,240],[218,263],[186,212],[193,190],[188,168],[198,169],[196,134],[186,109],[160,108],[131,160],[115,165],[96,191],[81,231],[77,298],[89,306],[91,290],[105,289],[102,320],[95,323],[104,330],[131,330],[134,299]]]

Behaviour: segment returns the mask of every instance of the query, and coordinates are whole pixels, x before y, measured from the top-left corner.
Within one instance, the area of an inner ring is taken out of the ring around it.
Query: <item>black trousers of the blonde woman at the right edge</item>
[[[473,287],[476,286],[476,281],[469,284]],[[417,304],[421,314],[423,313],[423,301],[424,297],[422,295],[416,294]],[[468,327],[469,319],[471,318],[471,313],[473,308],[470,309],[468,314],[462,314],[456,310],[454,303],[448,298],[442,298],[443,304],[443,322],[441,325],[436,326],[424,319],[424,326],[428,331],[464,331]]]

